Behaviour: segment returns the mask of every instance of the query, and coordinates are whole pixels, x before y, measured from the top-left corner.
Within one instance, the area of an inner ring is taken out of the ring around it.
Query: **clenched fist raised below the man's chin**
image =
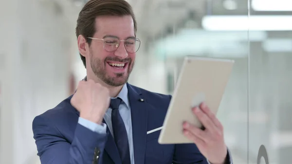
[[[80,81],[71,99],[72,106],[80,112],[80,117],[101,124],[110,106],[110,93],[93,80]]]

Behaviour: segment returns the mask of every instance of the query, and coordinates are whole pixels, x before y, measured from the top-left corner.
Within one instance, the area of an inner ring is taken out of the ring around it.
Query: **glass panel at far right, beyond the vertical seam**
[[[250,32],[266,33],[261,41],[249,41],[249,164],[291,164],[292,3],[249,4]]]

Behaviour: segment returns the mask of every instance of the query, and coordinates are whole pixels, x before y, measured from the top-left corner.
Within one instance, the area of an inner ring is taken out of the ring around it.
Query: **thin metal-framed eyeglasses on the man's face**
[[[136,37],[129,37],[126,40],[120,40],[117,37],[112,37],[112,36],[106,36],[102,39],[94,38],[94,37],[87,37],[87,38],[95,39],[95,40],[102,40],[103,47],[107,52],[116,51],[119,48],[121,41],[123,41],[125,49],[128,53],[136,53],[139,50],[140,44],[141,44],[140,39],[138,39]]]

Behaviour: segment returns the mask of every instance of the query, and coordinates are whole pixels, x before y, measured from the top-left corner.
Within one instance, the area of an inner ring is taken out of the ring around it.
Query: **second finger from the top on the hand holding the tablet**
[[[193,108],[193,113],[198,117],[199,121],[206,129],[210,131],[216,130],[216,126],[211,120],[211,118],[209,118],[207,114],[204,113],[201,109],[199,109],[198,107],[195,107]]]

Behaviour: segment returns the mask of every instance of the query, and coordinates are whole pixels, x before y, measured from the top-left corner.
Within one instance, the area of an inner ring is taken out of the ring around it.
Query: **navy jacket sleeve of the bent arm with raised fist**
[[[108,135],[77,124],[70,144],[42,115],[33,120],[33,133],[41,164],[101,164]]]

